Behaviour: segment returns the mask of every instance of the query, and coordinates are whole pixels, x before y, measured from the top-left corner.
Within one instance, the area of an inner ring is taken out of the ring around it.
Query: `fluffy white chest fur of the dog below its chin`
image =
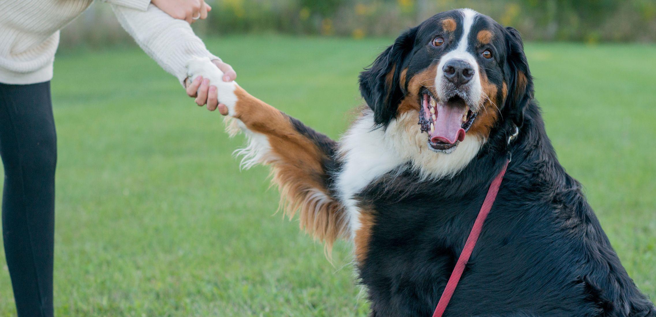
[[[351,237],[360,228],[358,200],[355,196],[369,183],[409,162],[424,179],[451,177],[474,158],[484,140],[469,136],[451,154],[428,149],[426,136],[417,127],[417,113],[409,111],[375,129],[369,110],[346,132],[339,143],[342,169],[336,186],[338,198],[348,214]]]

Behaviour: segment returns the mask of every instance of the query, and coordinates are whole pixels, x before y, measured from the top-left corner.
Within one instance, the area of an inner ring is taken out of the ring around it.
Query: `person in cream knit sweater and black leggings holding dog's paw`
[[[5,167],[2,225],[19,317],[51,317],[56,133],[50,81],[59,29],[93,0],[0,0],[0,156]],[[203,0],[103,0],[121,26],[198,105],[218,106],[207,79],[186,81],[186,63],[210,58],[224,81],[236,77],[190,24],[207,17]]]

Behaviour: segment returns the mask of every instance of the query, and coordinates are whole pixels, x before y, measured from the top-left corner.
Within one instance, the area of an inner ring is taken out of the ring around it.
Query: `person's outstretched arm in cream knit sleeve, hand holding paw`
[[[209,86],[211,85],[209,81],[201,79],[194,83],[185,83],[188,61],[192,58],[210,58],[226,73],[224,77],[226,81],[234,80],[236,73],[230,65],[223,63],[218,56],[211,54],[205,48],[205,44],[194,34],[188,22],[173,18],[151,4],[149,0],[105,0],[105,2],[112,5],[121,26],[132,35],[144,52],[165,71],[177,77],[183,86],[187,86],[190,96],[197,97],[195,101],[198,105],[207,102],[208,109],[216,109],[216,89]],[[194,93],[190,92],[192,88]],[[197,96],[195,92],[198,92]]]

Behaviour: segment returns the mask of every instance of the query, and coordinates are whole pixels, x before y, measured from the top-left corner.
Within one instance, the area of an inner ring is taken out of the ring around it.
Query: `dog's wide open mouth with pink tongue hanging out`
[[[421,132],[428,133],[428,147],[436,152],[453,152],[472,127],[476,113],[459,96],[445,103],[438,102],[428,90],[420,96],[419,124]]]

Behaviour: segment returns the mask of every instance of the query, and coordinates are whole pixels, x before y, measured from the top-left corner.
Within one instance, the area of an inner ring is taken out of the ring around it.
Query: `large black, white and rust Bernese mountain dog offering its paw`
[[[359,76],[340,141],[251,96],[207,59],[243,166],[271,166],[285,213],[352,240],[371,315],[431,316],[491,181],[505,177],[445,316],[656,316],[544,130],[520,33],[470,9],[403,32]]]

